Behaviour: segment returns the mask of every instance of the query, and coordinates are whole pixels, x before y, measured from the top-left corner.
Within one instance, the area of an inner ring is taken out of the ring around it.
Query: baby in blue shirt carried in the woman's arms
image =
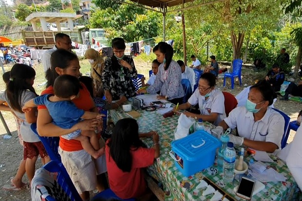
[[[81,119],[93,119],[103,116],[95,112],[88,112],[76,108],[71,100],[77,98],[82,88],[79,80],[72,75],[60,75],[54,83],[54,93],[36,97],[25,103],[22,110],[27,112],[38,105],[45,105],[53,118],[54,124],[60,128],[72,128]],[[76,130],[75,132],[61,136],[67,140],[78,140],[84,150],[94,159],[105,153],[105,148],[99,148],[98,138],[94,131]],[[89,138],[88,138],[89,137]]]

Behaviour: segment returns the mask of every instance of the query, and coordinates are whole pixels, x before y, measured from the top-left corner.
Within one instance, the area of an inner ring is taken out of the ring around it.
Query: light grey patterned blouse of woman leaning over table
[[[160,95],[168,96],[168,100],[184,97],[185,92],[181,85],[181,69],[178,63],[171,61],[167,71],[164,64],[160,64],[154,84],[147,88],[148,93],[156,93],[160,91]]]

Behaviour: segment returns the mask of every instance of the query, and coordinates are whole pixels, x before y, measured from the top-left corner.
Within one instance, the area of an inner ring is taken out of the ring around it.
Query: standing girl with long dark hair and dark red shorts
[[[42,163],[48,162],[49,156],[39,140],[38,136],[31,130],[30,125],[37,122],[36,112],[24,113],[23,105],[30,99],[37,97],[33,88],[36,72],[25,64],[15,64],[11,69],[10,81],[6,86],[6,91],[0,95],[0,104],[7,102],[8,106],[15,114],[23,120],[20,123],[20,132],[23,138],[23,160],[25,160],[25,171],[31,183],[35,175],[35,166],[40,155]]]

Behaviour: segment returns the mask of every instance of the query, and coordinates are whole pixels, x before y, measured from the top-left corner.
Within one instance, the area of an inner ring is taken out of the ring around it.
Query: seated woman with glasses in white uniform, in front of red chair
[[[216,77],[212,73],[203,73],[198,81],[198,89],[194,91],[187,103],[179,105],[179,110],[187,110],[191,106],[199,105],[200,114],[184,112],[187,117],[202,119],[217,126],[224,118],[225,97],[224,94],[215,89]],[[176,107],[173,108],[176,110]]]

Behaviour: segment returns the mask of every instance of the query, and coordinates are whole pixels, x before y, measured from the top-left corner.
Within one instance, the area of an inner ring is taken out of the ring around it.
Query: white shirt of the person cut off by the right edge
[[[300,189],[302,189],[302,127],[300,126],[296,132],[293,141],[289,149],[288,156],[286,158],[287,167],[290,173],[293,175],[295,181],[298,183]]]

